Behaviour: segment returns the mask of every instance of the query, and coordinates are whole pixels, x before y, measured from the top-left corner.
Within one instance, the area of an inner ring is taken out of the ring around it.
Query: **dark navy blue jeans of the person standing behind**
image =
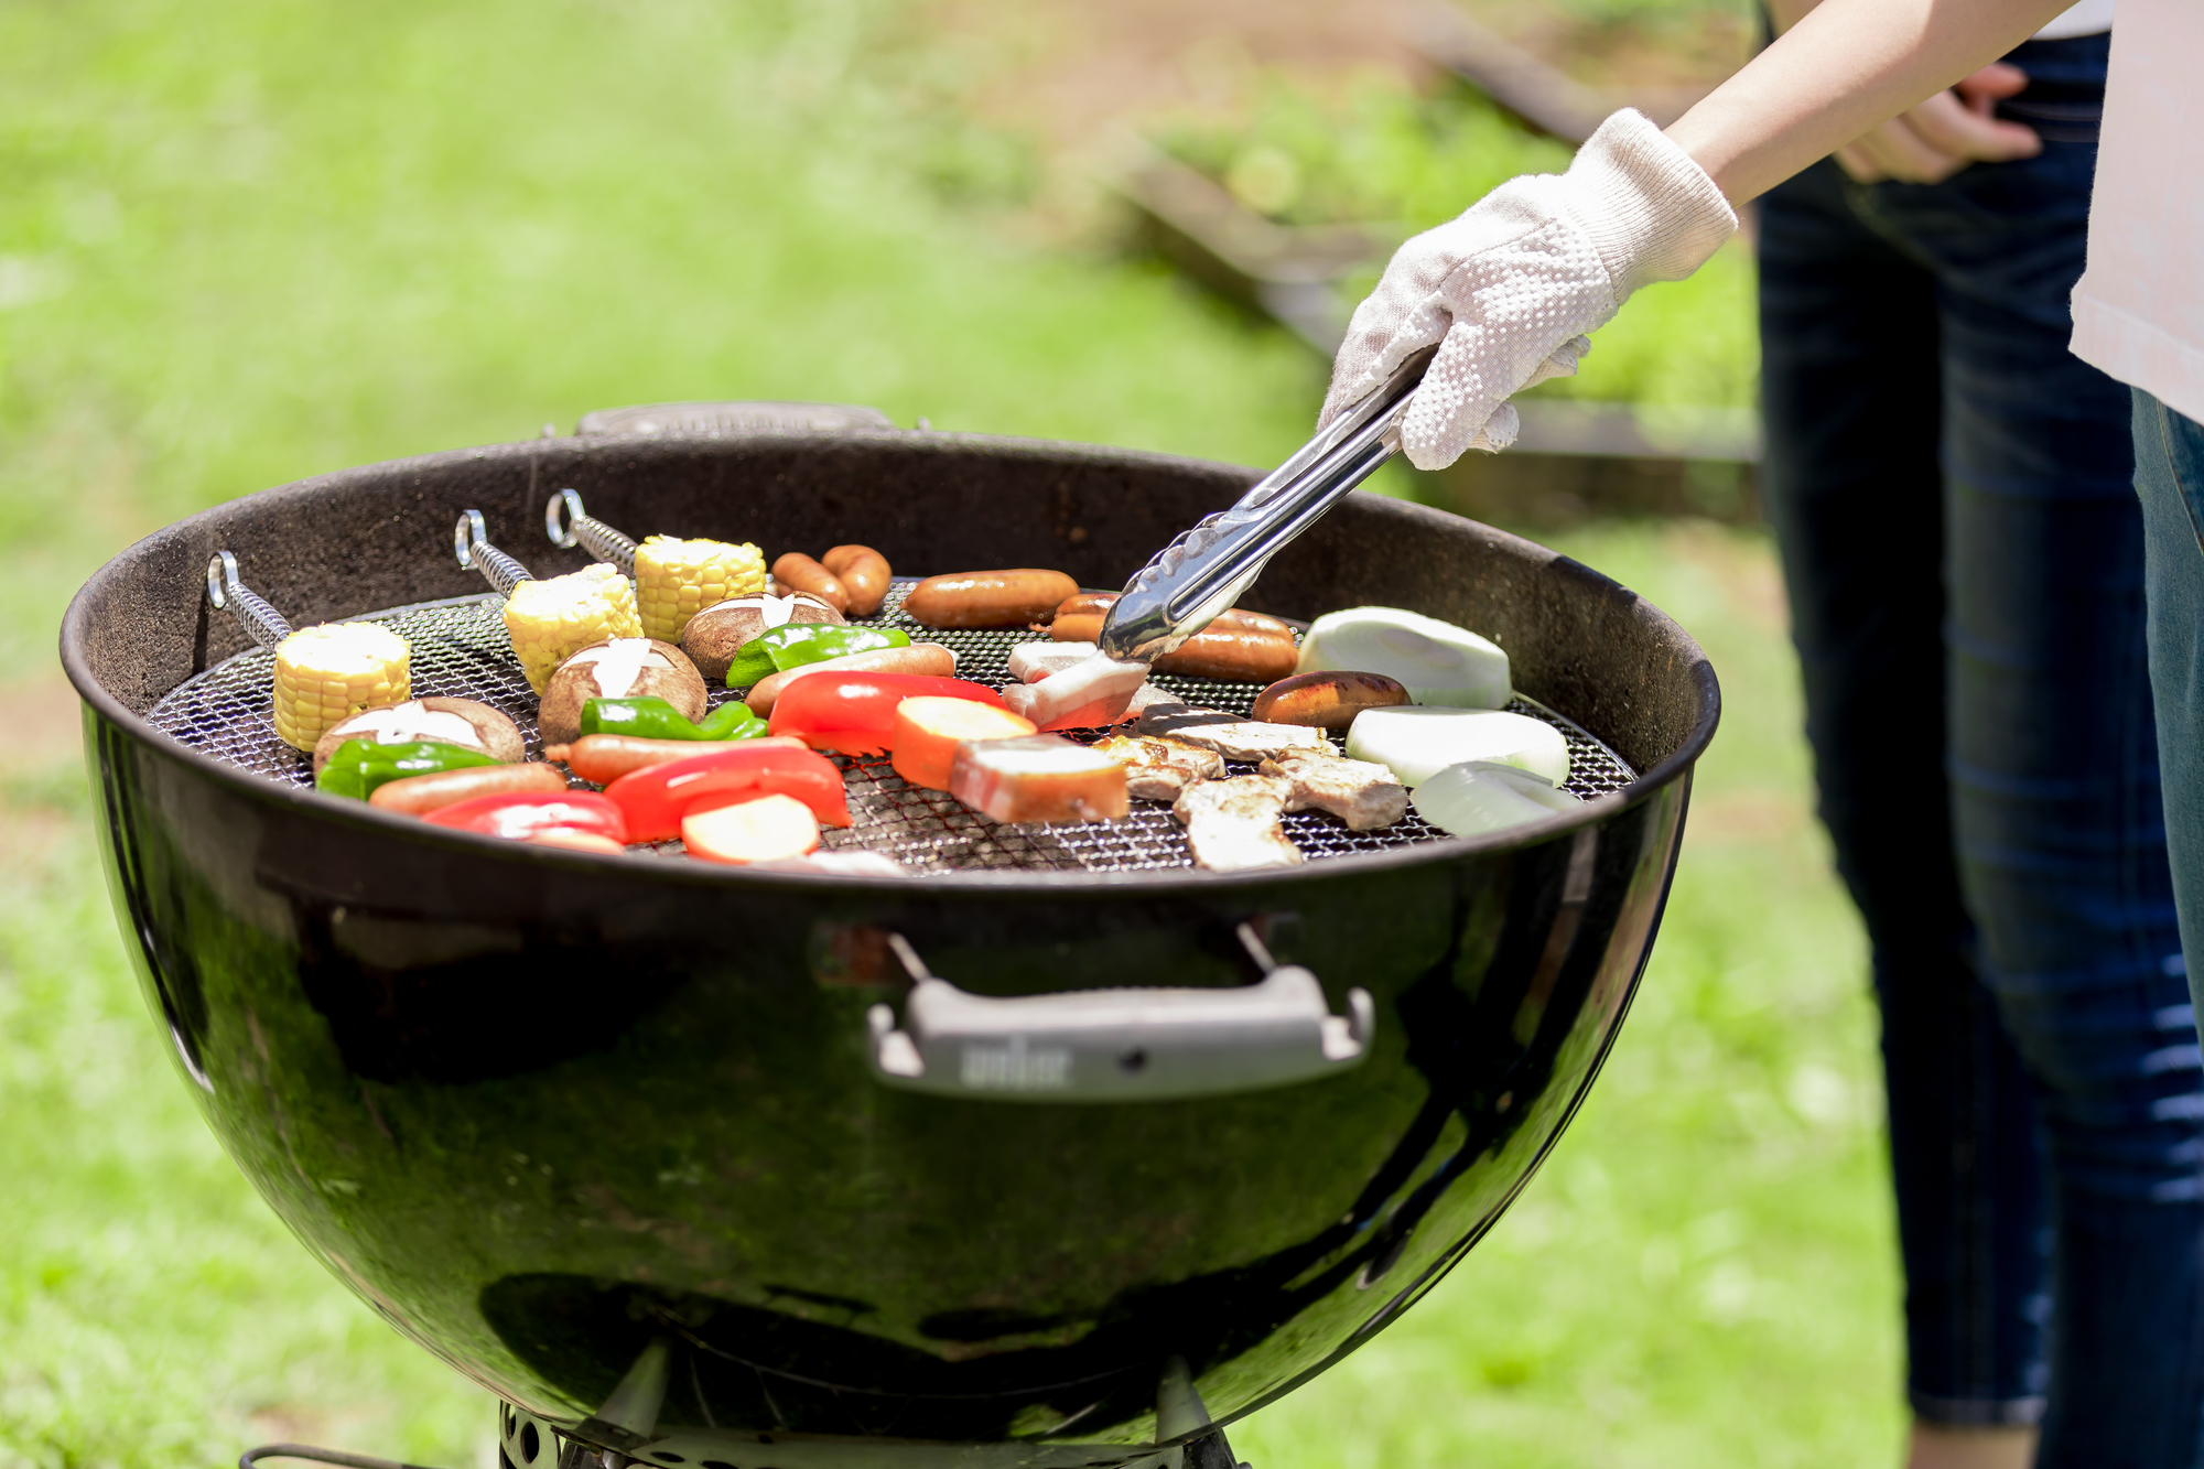
[[[1765,199],[1768,505],[1873,948],[1913,1409],[2041,1420],[2048,1469],[2175,1469],[2204,1465],[2204,1070],[2127,393],[2065,351],[2105,37],[2008,60],[2059,110],[2041,157]]]

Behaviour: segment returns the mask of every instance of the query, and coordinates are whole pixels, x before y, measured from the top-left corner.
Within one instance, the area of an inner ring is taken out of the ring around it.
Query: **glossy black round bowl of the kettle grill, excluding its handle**
[[[575,569],[527,534],[573,485],[637,532],[1111,587],[1250,479],[943,435],[547,439],[328,474],[130,547],[62,653],[115,907],[209,1125],[397,1330],[659,1462],[928,1440],[1115,1465],[1199,1423],[1159,1425],[1159,1385],[1190,1379],[1225,1423],[1320,1372],[1492,1226],[1642,973],[1717,688],[1616,582],[1433,510],[1342,503],[1243,604],[1479,629],[1638,779],[1512,838],[1250,876],[562,854],[284,787],[143,719],[247,646],[205,607],[216,549],[295,624],[344,618],[483,591],[443,549],[469,505],[538,573]],[[1120,1105],[868,1070],[866,1010],[906,984],[888,933],[965,990],[1031,995],[1245,984],[1241,924],[1333,1012],[1369,990],[1362,1065]]]

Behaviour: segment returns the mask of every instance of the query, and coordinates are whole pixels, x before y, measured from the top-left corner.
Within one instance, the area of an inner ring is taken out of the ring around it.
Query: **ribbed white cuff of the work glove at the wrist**
[[[1737,234],[1737,212],[1706,170],[1631,108],[1600,124],[1563,183],[1618,304],[1649,280],[1682,280]]]

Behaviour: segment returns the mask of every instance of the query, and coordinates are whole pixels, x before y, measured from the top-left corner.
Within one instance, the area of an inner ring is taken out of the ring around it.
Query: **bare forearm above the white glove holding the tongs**
[[[1821,0],[1668,137],[1743,203],[2012,51],[2067,4]]]

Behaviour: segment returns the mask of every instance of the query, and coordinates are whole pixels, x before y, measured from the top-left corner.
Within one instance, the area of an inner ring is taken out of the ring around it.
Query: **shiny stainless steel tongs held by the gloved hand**
[[[1318,516],[1400,452],[1400,419],[1424,382],[1426,346],[1230,510],[1203,518],[1133,573],[1102,622],[1102,653],[1153,664],[1223,613]]]

